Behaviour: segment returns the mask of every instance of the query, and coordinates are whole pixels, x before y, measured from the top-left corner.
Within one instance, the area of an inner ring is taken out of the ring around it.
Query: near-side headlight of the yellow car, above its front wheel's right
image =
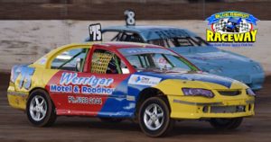
[[[182,93],[186,96],[203,96],[207,98],[213,98],[214,93],[207,89],[201,88],[182,88]]]

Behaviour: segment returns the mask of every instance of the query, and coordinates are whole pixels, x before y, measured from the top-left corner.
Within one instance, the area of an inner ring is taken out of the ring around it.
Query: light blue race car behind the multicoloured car
[[[262,88],[265,73],[256,61],[236,53],[211,47],[192,31],[167,26],[113,26],[102,30],[105,41],[131,41],[160,45],[190,60],[202,71],[228,76]],[[87,39],[86,41],[89,41]]]

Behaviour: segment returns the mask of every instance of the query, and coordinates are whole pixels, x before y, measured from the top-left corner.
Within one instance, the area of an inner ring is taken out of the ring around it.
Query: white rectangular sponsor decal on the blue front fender
[[[162,78],[147,75],[131,75],[128,84],[155,85],[159,84]]]

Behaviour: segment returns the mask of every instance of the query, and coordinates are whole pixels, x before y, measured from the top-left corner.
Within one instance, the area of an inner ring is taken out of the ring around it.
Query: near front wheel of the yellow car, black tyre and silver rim
[[[138,117],[140,128],[149,137],[163,137],[173,128],[170,108],[159,97],[145,100],[140,106]]]

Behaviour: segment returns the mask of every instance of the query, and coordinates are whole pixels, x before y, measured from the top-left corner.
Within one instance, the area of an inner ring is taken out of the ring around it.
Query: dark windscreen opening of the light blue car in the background
[[[166,48],[172,47],[200,47],[207,46],[208,43],[201,39],[201,37],[176,37],[176,38],[163,38],[157,40],[149,40],[151,44],[163,46]]]

